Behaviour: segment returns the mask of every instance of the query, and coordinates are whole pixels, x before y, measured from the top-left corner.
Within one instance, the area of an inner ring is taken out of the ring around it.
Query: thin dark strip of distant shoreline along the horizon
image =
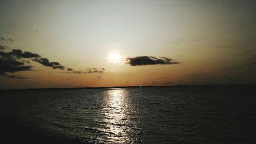
[[[208,87],[208,86],[216,86],[216,87],[226,87],[226,86],[256,86],[256,84],[234,84],[234,85],[174,85],[174,86],[141,86],[141,87]],[[110,86],[110,87],[67,87],[67,88],[25,88],[25,89],[0,89],[0,92],[8,92],[8,91],[49,91],[49,90],[80,90],[80,89],[111,89],[111,88],[140,88],[140,86]]]

